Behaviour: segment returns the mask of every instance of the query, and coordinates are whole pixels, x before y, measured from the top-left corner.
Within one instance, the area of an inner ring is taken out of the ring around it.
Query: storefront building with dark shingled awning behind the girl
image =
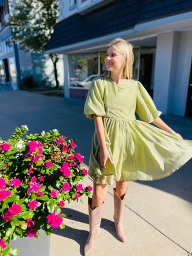
[[[86,97],[105,70],[106,45],[134,45],[139,79],[164,114],[192,116],[192,1],[60,0],[60,21],[47,53],[62,53],[65,97]]]

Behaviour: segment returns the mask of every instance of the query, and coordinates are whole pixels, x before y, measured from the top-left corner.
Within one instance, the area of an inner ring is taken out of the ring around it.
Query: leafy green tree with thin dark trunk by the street
[[[20,48],[44,53],[58,21],[58,0],[10,0],[10,21],[13,41]],[[59,87],[56,63],[58,54],[48,54],[54,67],[56,87]]]

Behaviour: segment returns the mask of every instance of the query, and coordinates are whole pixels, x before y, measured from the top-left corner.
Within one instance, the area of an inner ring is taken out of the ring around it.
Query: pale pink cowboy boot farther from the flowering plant
[[[125,194],[127,191],[125,192]],[[123,212],[124,212],[124,205],[125,205],[125,194],[120,198],[115,193],[115,188],[113,189],[114,194],[114,222],[115,222],[115,228],[116,228],[116,234],[120,241],[125,242],[125,228],[123,225]]]

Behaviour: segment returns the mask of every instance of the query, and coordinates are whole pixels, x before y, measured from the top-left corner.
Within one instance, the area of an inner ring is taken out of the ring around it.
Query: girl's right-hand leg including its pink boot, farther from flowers
[[[126,233],[123,225],[123,212],[125,205],[125,194],[127,192],[127,181],[116,181],[116,189],[114,189],[114,222],[116,234],[120,241],[124,242]]]

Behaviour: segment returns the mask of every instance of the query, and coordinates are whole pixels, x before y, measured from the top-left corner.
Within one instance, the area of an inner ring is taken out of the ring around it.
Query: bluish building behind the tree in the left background
[[[22,81],[33,85],[55,86],[53,65],[47,54],[26,52],[12,41],[11,28],[6,26],[10,17],[10,0],[0,0],[0,86],[7,84],[13,90],[22,87]],[[11,10],[12,11],[12,10]],[[63,84],[63,61],[58,64],[58,80]],[[34,83],[35,82],[35,83]],[[25,84],[26,86],[26,84]]]

